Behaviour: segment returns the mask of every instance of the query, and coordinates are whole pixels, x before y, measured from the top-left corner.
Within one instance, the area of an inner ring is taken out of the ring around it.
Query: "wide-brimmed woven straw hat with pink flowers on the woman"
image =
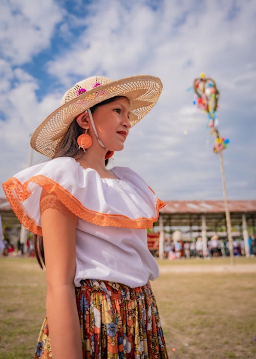
[[[114,96],[129,98],[131,125],[140,121],[156,104],[162,91],[160,78],[149,75],[125,77],[117,81],[103,76],[86,78],[62,98],[61,106],[53,111],[34,131],[31,147],[52,158],[74,118],[90,107]]]

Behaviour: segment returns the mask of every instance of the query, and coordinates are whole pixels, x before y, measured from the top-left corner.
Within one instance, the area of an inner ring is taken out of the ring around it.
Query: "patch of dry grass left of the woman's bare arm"
[[[45,273],[29,258],[0,258],[0,358],[33,358],[45,313]]]

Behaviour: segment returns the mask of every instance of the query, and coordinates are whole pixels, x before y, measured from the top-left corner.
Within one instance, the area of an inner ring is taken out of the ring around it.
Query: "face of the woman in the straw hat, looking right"
[[[131,128],[130,104],[126,97],[97,107],[93,112],[98,136],[105,148],[121,151]]]

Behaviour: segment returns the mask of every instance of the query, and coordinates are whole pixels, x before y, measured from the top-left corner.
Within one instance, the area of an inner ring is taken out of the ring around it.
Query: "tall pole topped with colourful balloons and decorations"
[[[219,158],[220,158],[229,253],[230,253],[230,261],[231,264],[233,265],[234,255],[233,255],[233,241],[231,234],[231,220],[230,220],[230,212],[228,207],[226,179],[225,179],[225,171],[224,171],[224,163],[223,163],[223,155],[222,155],[222,151],[227,148],[229,139],[221,137],[218,129],[219,120],[217,118],[217,109],[218,109],[218,101],[219,101],[220,93],[217,89],[215,81],[212,78],[205,77],[204,73],[201,73],[199,78],[194,79],[193,87],[195,92],[195,99],[193,103],[194,105],[197,105],[198,108],[201,109],[204,113],[207,113],[208,127],[211,130],[210,134],[215,135],[214,152],[216,154],[219,154]]]

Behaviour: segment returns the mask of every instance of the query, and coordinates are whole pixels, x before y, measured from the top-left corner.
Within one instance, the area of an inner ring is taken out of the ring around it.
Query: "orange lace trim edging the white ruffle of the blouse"
[[[54,192],[58,200],[65,205],[72,213],[82,218],[82,220],[93,223],[97,226],[113,226],[124,228],[147,229],[152,228],[153,223],[158,220],[159,209],[165,206],[165,203],[159,198],[156,203],[157,215],[151,218],[136,218],[135,220],[121,214],[100,213],[83,207],[82,204],[65,188],[61,187],[52,179],[43,175],[31,177],[24,185],[18,181],[17,178],[12,177],[3,183],[3,188],[14,213],[16,214],[20,223],[24,225],[29,231],[42,235],[41,227],[39,227],[24,211],[20,202],[25,201],[31,192],[28,189],[29,182],[34,182],[46,190],[46,192]]]

